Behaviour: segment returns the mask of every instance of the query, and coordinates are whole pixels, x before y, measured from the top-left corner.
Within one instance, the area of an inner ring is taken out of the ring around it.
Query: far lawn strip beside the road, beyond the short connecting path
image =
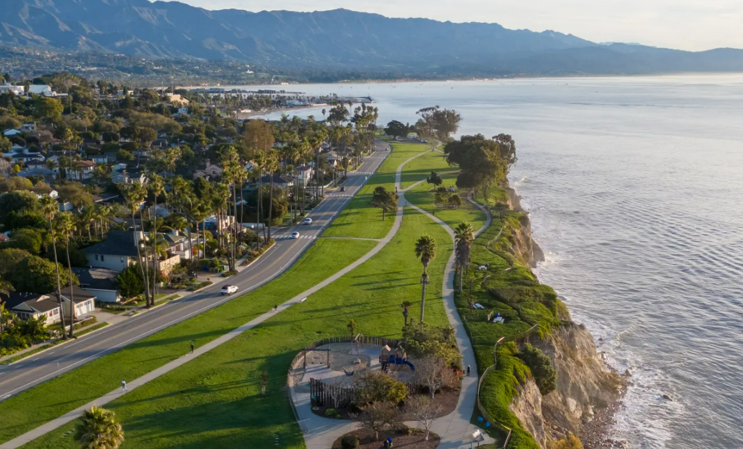
[[[392,154],[389,155],[374,175],[369,177],[360,192],[351,198],[348,206],[343,209],[337,218],[325,229],[324,236],[328,237],[361,237],[365,239],[381,239],[392,228],[394,213],[387,213],[382,221],[382,211],[371,206],[371,196],[379,186],[386,190],[395,190],[395,173],[400,164],[421,154],[426,145],[418,143],[392,143]],[[404,172],[403,172],[404,175]]]

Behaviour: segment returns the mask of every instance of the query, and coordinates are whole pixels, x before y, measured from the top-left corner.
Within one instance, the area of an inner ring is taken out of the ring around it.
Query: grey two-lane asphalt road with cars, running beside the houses
[[[299,259],[305,249],[343,210],[366,179],[377,171],[384,158],[389,155],[386,151],[389,148],[387,143],[377,141],[376,147],[377,151],[366,157],[366,161],[358,172],[348,173],[348,180],[343,184],[345,192],[326,195],[325,201],[322,201],[308,215],[312,218],[311,225],[296,225],[278,230],[278,232],[272,230],[272,237],[276,239],[276,244],[253,265],[224,282],[215,282],[215,285],[210,285],[194,294],[84,335],[74,342],[59,345],[39,355],[31,355],[15,364],[0,367],[0,401],[114,352],[122,346],[148,337],[161,329],[226,303],[278,277]],[[295,230],[300,233],[300,238],[289,239],[289,234]],[[221,296],[221,285],[227,283],[237,285],[239,293],[229,297]]]

